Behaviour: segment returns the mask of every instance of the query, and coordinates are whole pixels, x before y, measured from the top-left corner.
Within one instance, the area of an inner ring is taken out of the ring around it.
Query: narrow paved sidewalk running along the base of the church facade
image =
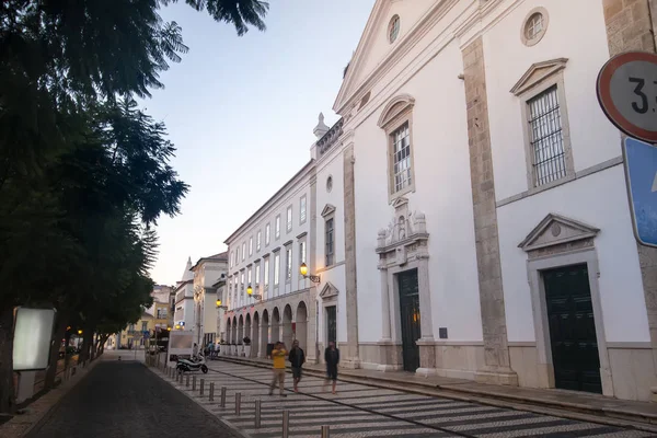
[[[246,359],[234,356],[219,356],[219,359],[261,367],[270,366],[270,360],[265,359]],[[304,366],[304,368],[318,374],[324,372],[322,365],[310,365]],[[387,388],[405,388],[406,390],[420,392],[431,391],[442,396],[473,400],[480,403],[489,401],[496,405],[507,403],[511,407],[519,408],[522,408],[520,405],[538,406],[539,408],[564,410],[609,417],[610,420],[624,419],[645,424],[646,428],[657,431],[657,403],[624,401],[574,391],[503,387],[437,376],[425,378],[403,371],[382,372],[341,368],[339,378],[341,380],[360,381]]]

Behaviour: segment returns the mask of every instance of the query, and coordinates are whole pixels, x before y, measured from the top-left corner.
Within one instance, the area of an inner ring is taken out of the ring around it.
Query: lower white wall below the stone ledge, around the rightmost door
[[[527,254],[518,244],[550,212],[601,230],[595,242],[607,341],[649,342],[638,255],[621,165],[497,210],[509,341],[534,341]]]

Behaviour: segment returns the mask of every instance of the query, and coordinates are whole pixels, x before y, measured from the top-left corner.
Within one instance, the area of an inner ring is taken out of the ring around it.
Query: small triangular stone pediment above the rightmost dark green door
[[[550,214],[525,238],[518,247],[523,251],[595,238],[600,230],[555,214]]]

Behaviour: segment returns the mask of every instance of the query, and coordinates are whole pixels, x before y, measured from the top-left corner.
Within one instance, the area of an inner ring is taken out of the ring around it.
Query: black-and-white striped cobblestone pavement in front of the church
[[[331,427],[331,437],[649,437],[648,433],[583,423],[548,415],[491,407],[448,399],[407,394],[362,384],[338,382],[337,394],[322,392],[323,381],[304,377],[300,393],[286,376],[287,396],[268,395],[272,373],[267,369],[230,362],[211,362],[207,374],[195,373],[182,382],[169,379],[198,403],[246,434],[280,437],[283,411],[289,411],[290,436],[319,437]],[[196,390],[192,391],[193,380]],[[204,379],[204,395],[199,394]],[[209,401],[209,384],[215,400]],[[227,407],[220,407],[220,388],[227,388]],[[330,388],[328,388],[330,389]],[[235,415],[235,392],[241,393],[241,415]],[[255,429],[255,400],[262,401],[262,424]]]

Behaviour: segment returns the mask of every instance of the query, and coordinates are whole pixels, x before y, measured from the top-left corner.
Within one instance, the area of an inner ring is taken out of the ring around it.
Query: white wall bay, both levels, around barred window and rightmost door
[[[499,8],[504,10],[512,3],[509,0]],[[538,45],[526,47],[520,41],[522,21],[539,5],[548,9],[550,26]],[[581,33],[585,22],[587,32]],[[522,103],[509,90],[533,62],[568,58],[564,82],[576,172],[621,154],[620,135],[602,114],[596,97],[598,71],[609,59],[599,1],[518,2],[485,34],[484,50],[498,200],[528,189]],[[607,341],[648,342],[638,256],[621,165],[498,208],[509,341],[534,341],[527,255],[517,245],[550,212],[601,230],[595,242]]]

